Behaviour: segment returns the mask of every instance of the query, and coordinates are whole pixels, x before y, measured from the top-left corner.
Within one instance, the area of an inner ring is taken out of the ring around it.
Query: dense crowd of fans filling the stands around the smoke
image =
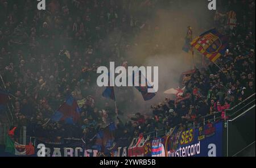
[[[221,69],[211,62],[195,69],[181,82],[185,90],[179,101],[167,98],[151,106],[150,117],[138,112],[126,122],[102,98],[95,84],[97,66],[126,61],[130,38],[150,24],[142,20],[159,2],[52,0],[46,11],[36,10],[36,3],[0,0],[2,89],[13,93],[14,125],[27,125],[28,136],[83,137],[93,144],[99,129],[113,121],[116,139],[176,125],[184,128],[214,112],[224,119],[226,109],[255,93],[255,1],[224,4],[219,12],[237,14],[233,30],[226,25],[227,16],[214,20],[229,36],[229,51],[217,62]],[[85,100],[79,123],[49,121],[70,94]]]

